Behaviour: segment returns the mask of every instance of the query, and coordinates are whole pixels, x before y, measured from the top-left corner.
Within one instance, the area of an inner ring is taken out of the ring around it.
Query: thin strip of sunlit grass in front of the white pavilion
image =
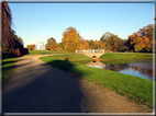
[[[48,54],[67,54],[63,50],[32,50],[29,51],[29,55],[48,55]]]

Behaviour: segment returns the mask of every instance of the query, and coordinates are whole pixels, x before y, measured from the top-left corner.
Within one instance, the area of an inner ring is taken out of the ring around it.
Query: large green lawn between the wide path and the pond
[[[65,60],[65,56],[68,57],[69,60]],[[75,55],[64,55],[64,58],[60,56],[51,56],[41,57],[40,59],[54,67],[73,72],[93,84],[124,95],[132,101],[145,104],[151,108],[153,107],[153,81],[71,62],[76,60],[75,57]],[[82,56],[79,56],[79,59],[82,60],[83,58],[80,57]]]

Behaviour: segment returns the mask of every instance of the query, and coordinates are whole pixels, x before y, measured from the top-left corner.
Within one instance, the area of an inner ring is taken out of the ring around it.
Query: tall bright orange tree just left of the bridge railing
[[[64,50],[75,53],[79,44],[79,35],[75,28],[67,32],[67,35],[63,36]]]

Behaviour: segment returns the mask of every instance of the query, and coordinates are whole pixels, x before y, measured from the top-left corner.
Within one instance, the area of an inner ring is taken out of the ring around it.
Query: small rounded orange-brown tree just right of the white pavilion
[[[51,37],[47,39],[46,49],[47,50],[55,50],[56,49],[56,40],[55,38]]]

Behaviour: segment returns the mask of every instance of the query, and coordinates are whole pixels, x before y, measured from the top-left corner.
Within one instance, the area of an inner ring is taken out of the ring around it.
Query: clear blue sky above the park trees
[[[76,27],[85,39],[110,32],[123,39],[154,23],[153,3],[9,3],[12,28],[24,47],[49,37],[62,42],[64,31]]]

